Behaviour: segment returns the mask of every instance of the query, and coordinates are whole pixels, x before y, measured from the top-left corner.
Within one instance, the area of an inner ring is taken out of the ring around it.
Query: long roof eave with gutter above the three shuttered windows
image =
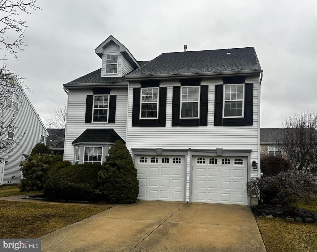
[[[128,81],[140,79],[178,79],[182,77],[223,77],[236,75],[260,75],[263,70],[248,70],[248,71],[229,71],[229,72],[213,72],[213,73],[188,73],[188,74],[153,74],[153,75],[125,75]]]

